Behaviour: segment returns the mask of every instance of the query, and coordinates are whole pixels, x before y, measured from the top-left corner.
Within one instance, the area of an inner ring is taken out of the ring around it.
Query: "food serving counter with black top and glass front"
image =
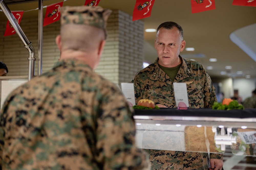
[[[256,157],[256,109],[136,110],[136,144],[143,149]]]

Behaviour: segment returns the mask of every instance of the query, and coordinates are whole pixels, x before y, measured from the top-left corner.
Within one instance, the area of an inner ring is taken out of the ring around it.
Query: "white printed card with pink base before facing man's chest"
[[[188,104],[188,93],[186,83],[173,83],[174,97],[176,106],[179,107],[189,107]]]

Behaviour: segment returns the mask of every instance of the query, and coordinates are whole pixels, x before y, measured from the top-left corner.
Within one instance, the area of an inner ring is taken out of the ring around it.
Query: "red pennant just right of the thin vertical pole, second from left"
[[[46,7],[46,13],[44,18],[43,26],[49,25],[60,20],[60,10],[59,8],[62,7],[63,2],[59,2],[56,4],[51,4]]]

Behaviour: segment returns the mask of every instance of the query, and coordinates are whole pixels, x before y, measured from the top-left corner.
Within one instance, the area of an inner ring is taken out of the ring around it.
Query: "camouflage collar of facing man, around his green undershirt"
[[[179,58],[182,61],[182,65],[178,71],[177,76],[175,77],[174,82],[179,82],[180,80],[185,79],[186,77],[194,76],[194,73],[188,66],[187,61],[184,60],[180,55],[179,55]],[[160,67],[158,66],[158,57],[156,61],[152,64],[150,79],[159,80],[161,82],[172,84],[172,80],[170,80],[170,77],[167,74],[165,74],[165,72],[162,69],[160,69]]]

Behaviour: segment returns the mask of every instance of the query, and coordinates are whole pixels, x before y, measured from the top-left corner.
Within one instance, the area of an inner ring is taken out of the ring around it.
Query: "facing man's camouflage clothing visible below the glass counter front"
[[[181,152],[143,149],[150,156],[152,169],[175,170],[207,170],[209,165],[208,153]]]

